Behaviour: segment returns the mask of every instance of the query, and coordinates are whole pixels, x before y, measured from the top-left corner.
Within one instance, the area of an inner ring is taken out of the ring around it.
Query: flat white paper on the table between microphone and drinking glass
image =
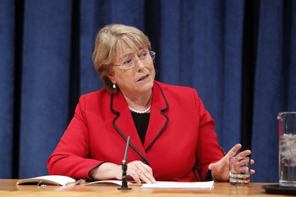
[[[211,189],[211,182],[156,182],[156,184],[142,184],[142,188],[188,188],[188,189]]]

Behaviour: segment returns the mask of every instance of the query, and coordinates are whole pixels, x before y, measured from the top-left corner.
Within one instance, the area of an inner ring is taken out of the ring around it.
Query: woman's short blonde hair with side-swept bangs
[[[148,37],[135,27],[113,24],[106,25],[99,30],[94,43],[92,61],[105,88],[111,94],[116,93],[119,89],[118,87],[113,89],[113,83],[107,75],[111,72],[118,54],[125,51],[126,48],[135,49],[135,51],[141,48],[152,50]]]

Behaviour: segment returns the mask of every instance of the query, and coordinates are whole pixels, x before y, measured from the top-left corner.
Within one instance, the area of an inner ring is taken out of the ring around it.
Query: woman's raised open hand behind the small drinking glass
[[[241,144],[235,144],[233,148],[228,151],[228,153],[221,158],[216,163],[211,163],[209,165],[209,170],[211,170],[211,173],[214,175],[214,177],[221,181],[227,181],[229,179],[229,158],[232,158],[235,156],[235,154],[242,148]],[[238,153],[235,157],[241,157],[245,158],[247,155],[251,154],[251,151],[246,150]],[[254,160],[251,160],[251,165],[254,163]],[[251,174],[255,173],[255,170],[250,170]]]

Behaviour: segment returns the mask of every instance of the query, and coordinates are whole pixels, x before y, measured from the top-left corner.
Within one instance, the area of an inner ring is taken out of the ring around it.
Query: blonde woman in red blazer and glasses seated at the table
[[[149,39],[135,27],[99,31],[93,61],[105,87],[80,97],[47,161],[49,174],[121,179],[130,136],[127,175],[137,183],[228,180],[228,158],[240,144],[223,156],[197,91],[154,81],[154,57]]]

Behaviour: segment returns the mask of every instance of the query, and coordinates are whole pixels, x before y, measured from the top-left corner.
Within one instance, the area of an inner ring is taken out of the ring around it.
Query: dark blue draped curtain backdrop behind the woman
[[[0,0],[0,178],[47,174],[109,23],[156,51],[156,79],[195,87],[218,142],[251,148],[252,182],[278,182],[279,111],[296,110],[296,1]],[[186,122],[190,124],[190,121]]]

